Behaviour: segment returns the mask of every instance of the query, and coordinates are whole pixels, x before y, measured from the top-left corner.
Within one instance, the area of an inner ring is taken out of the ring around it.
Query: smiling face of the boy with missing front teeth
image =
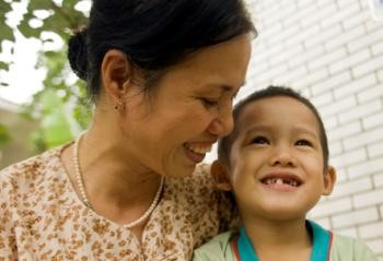
[[[324,173],[318,122],[301,102],[267,97],[246,105],[230,153],[242,218],[304,218],[335,182]]]

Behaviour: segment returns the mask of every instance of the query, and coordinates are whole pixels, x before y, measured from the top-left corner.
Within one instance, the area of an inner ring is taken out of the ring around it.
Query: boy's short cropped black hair
[[[239,134],[237,121],[242,110],[246,107],[246,105],[255,103],[259,99],[278,97],[278,96],[294,98],[301,102],[302,104],[304,104],[305,106],[307,106],[307,108],[314,114],[320,127],[320,140],[321,140],[321,145],[323,150],[324,169],[326,170],[328,167],[328,143],[327,143],[326,130],[323,124],[320,112],[307,98],[303,97],[297,91],[285,86],[268,86],[267,88],[256,91],[234,106],[234,109],[233,109],[234,129],[229,135],[223,137],[218,141],[218,159],[227,164],[228,166],[230,166],[230,151],[233,145],[233,142],[235,141]]]

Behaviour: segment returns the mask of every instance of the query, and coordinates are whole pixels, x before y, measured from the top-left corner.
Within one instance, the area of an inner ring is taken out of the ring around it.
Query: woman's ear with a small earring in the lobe
[[[129,88],[131,76],[132,67],[127,56],[120,50],[108,50],[101,64],[101,80],[103,88],[116,109],[124,104],[123,99]]]

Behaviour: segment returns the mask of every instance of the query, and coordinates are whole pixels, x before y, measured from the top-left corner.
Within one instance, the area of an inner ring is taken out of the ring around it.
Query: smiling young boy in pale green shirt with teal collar
[[[334,235],[306,213],[333,191],[335,169],[315,107],[286,87],[256,92],[234,108],[211,173],[232,191],[243,221],[195,251],[198,260],[373,261],[360,240]]]

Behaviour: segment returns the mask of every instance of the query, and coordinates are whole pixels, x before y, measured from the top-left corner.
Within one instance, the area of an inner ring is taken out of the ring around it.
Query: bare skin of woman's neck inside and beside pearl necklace
[[[120,142],[117,140],[115,135],[91,129],[78,144],[78,158],[92,209],[117,224],[127,224],[139,218],[150,207],[159,190],[161,176],[132,161],[132,156],[119,149]],[[63,151],[62,161],[81,199],[73,166],[74,156],[71,146]]]

